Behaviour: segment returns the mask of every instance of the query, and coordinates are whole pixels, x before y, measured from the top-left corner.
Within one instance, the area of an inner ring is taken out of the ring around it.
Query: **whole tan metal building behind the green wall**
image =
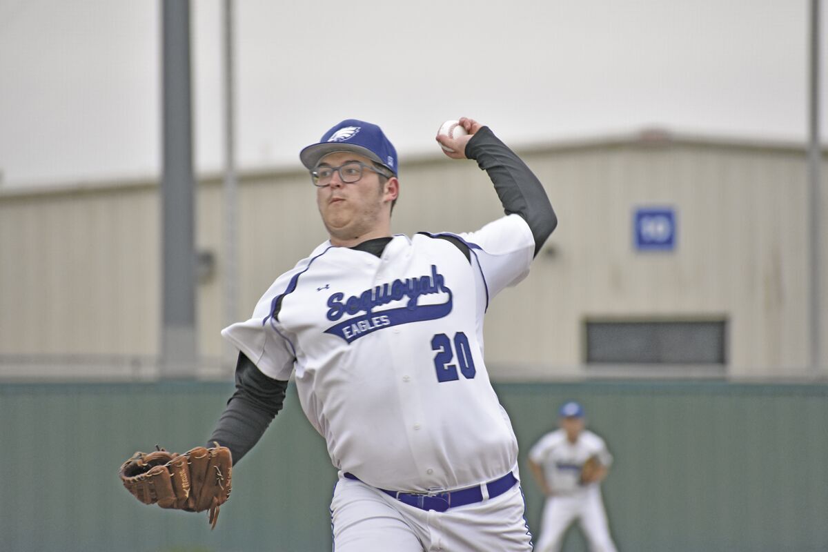
[[[559,225],[489,309],[493,377],[828,377],[828,221],[825,345],[818,367],[809,358],[804,146],[642,132],[516,149]],[[473,161],[403,159],[400,179],[395,233],[473,230],[503,213]],[[203,377],[229,370],[221,184],[197,187]],[[326,236],[298,163],[244,173],[239,194],[243,319]],[[826,196],[823,183],[823,214]],[[159,198],[154,180],[0,190],[0,377],[157,375]]]

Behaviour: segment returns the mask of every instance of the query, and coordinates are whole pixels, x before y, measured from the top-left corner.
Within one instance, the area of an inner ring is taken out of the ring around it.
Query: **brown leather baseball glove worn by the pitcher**
[[[215,528],[219,506],[230,497],[233,458],[227,447],[195,447],[184,454],[156,445],[152,453],[137,452],[119,471],[123,486],[144,504],[185,511],[209,510]]]

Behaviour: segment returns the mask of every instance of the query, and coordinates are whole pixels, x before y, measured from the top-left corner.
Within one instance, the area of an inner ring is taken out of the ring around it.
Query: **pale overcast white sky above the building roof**
[[[158,174],[160,1],[0,0],[3,186]],[[243,169],[298,167],[344,118],[403,162],[463,115],[513,146],[651,126],[806,139],[809,0],[236,2]],[[219,170],[221,2],[191,17],[195,165]]]

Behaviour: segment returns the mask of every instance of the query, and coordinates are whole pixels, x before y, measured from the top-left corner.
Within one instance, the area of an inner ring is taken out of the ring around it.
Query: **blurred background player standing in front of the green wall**
[[[537,550],[561,550],[566,529],[578,520],[590,550],[615,552],[599,485],[613,457],[604,439],[585,429],[579,403],[561,406],[559,418],[560,429],[544,435],[529,451],[532,475],[546,495]],[[584,469],[588,460],[595,466],[590,473]]]

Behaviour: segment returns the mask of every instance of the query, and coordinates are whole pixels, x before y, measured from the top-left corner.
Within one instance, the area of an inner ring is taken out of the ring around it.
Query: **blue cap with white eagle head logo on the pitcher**
[[[397,175],[397,150],[383,129],[370,122],[345,119],[322,135],[318,143],[299,152],[302,165],[313,169],[322,157],[335,151],[354,151],[376,161]]]

